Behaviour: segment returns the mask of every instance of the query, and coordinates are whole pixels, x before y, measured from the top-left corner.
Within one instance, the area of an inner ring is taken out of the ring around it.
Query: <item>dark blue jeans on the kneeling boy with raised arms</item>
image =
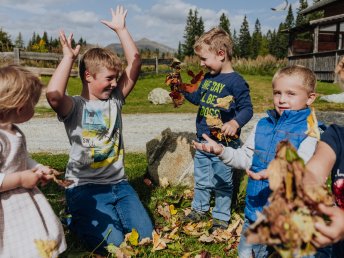
[[[70,229],[96,253],[110,243],[119,246],[126,233],[136,229],[140,239],[152,236],[152,222],[135,190],[127,181],[87,184],[66,190]]]

